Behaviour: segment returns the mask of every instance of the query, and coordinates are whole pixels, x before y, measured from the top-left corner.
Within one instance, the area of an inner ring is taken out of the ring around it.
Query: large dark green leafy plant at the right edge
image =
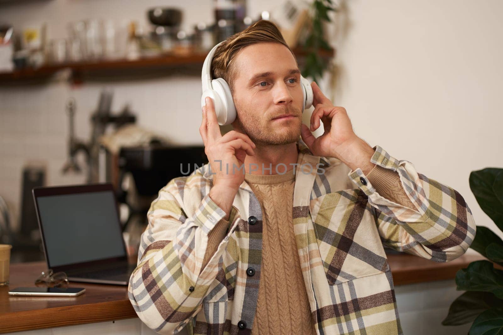
[[[503,169],[470,173],[470,189],[482,210],[503,231]],[[477,226],[470,248],[490,261],[471,262],[456,273],[458,290],[465,290],[449,308],[443,325],[473,324],[470,335],[503,333],[503,241],[487,227]],[[497,266],[498,267],[498,266]]]

